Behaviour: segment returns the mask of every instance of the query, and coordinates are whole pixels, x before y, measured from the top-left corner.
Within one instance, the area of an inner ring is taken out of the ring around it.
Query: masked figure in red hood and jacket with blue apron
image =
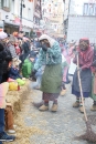
[[[73,104],[73,107],[79,107],[79,111],[84,113],[83,104],[81,102],[81,92],[77,78],[77,71],[81,73],[83,96],[88,97],[92,91],[92,71],[90,66],[93,63],[94,51],[89,47],[88,39],[81,39],[77,48],[79,69],[75,71],[73,76],[72,94],[76,95],[76,102]],[[77,55],[75,55],[74,63],[77,64]]]

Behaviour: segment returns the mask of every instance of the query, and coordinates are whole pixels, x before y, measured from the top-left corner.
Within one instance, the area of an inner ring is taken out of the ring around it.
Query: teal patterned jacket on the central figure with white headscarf
[[[34,64],[34,69],[39,70],[42,65],[56,65],[62,63],[62,54],[58,42],[55,42],[47,51],[40,50],[39,59]]]

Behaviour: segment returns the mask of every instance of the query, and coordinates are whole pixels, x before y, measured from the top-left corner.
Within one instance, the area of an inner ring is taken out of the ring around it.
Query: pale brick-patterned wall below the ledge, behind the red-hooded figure
[[[70,17],[67,41],[88,38],[96,42],[96,17]]]

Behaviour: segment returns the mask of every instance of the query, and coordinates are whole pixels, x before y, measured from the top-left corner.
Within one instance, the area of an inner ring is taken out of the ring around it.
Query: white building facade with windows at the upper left
[[[0,21],[4,23],[4,31],[12,33],[19,31],[21,27],[22,31],[29,35],[33,29],[33,8],[34,3],[30,0],[0,0]]]

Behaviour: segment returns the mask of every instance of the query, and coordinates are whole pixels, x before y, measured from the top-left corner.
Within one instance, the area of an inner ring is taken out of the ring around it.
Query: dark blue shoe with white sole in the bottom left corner
[[[0,142],[12,142],[15,140],[15,136],[8,135],[6,132],[0,133]]]

